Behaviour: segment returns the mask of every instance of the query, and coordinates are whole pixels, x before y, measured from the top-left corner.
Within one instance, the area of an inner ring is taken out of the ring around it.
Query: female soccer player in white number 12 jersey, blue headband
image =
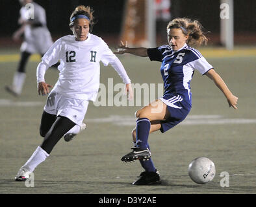
[[[73,36],[58,39],[42,58],[37,68],[38,94],[48,94],[45,71],[60,60],[60,74],[47,98],[42,114],[40,135],[44,137],[31,158],[19,169],[16,180],[29,178],[36,166],[49,156],[55,144],[70,129],[83,122],[89,100],[95,101],[99,90],[99,61],[114,67],[130,96],[131,81],[122,63],[103,39],[91,34],[94,25],[89,6],[77,6],[70,17]]]

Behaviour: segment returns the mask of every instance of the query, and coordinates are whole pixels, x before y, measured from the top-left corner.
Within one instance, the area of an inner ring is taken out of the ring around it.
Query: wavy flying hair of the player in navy
[[[183,34],[188,35],[187,44],[200,46],[203,43],[207,44],[207,37],[203,32],[203,26],[199,21],[188,18],[175,18],[167,25],[167,30],[170,28],[180,28]]]

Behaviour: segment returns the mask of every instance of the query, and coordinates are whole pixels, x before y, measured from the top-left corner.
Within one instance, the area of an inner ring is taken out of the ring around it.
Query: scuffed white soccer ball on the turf
[[[207,157],[195,158],[188,165],[189,177],[198,184],[205,184],[214,179],[216,169],[212,160]]]

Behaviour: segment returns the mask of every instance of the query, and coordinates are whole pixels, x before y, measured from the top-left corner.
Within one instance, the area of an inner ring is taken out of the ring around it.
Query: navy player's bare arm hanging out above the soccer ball
[[[206,73],[207,77],[211,78],[215,85],[224,93],[225,97],[227,98],[227,102],[229,103],[229,107],[233,107],[237,109],[237,96],[234,96],[231,91],[229,91],[229,88],[225,84],[224,80],[220,77],[220,75],[214,71],[214,69],[209,70]]]

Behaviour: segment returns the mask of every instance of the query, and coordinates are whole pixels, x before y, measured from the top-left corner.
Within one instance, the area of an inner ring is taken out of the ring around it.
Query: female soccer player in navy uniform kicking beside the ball
[[[164,81],[164,96],[136,111],[136,128],[133,130],[134,148],[122,157],[122,161],[139,159],[146,170],[140,174],[135,185],[160,183],[159,172],[151,160],[147,139],[149,133],[160,130],[162,133],[182,122],[191,109],[190,82],[194,70],[205,74],[224,93],[229,107],[237,109],[238,98],[227,88],[222,78],[214,71],[200,52],[190,46],[201,45],[207,38],[198,21],[176,18],[167,26],[168,43],[154,49],[129,48],[120,45],[116,54],[131,53],[149,57],[151,61],[160,61],[160,72]]]

